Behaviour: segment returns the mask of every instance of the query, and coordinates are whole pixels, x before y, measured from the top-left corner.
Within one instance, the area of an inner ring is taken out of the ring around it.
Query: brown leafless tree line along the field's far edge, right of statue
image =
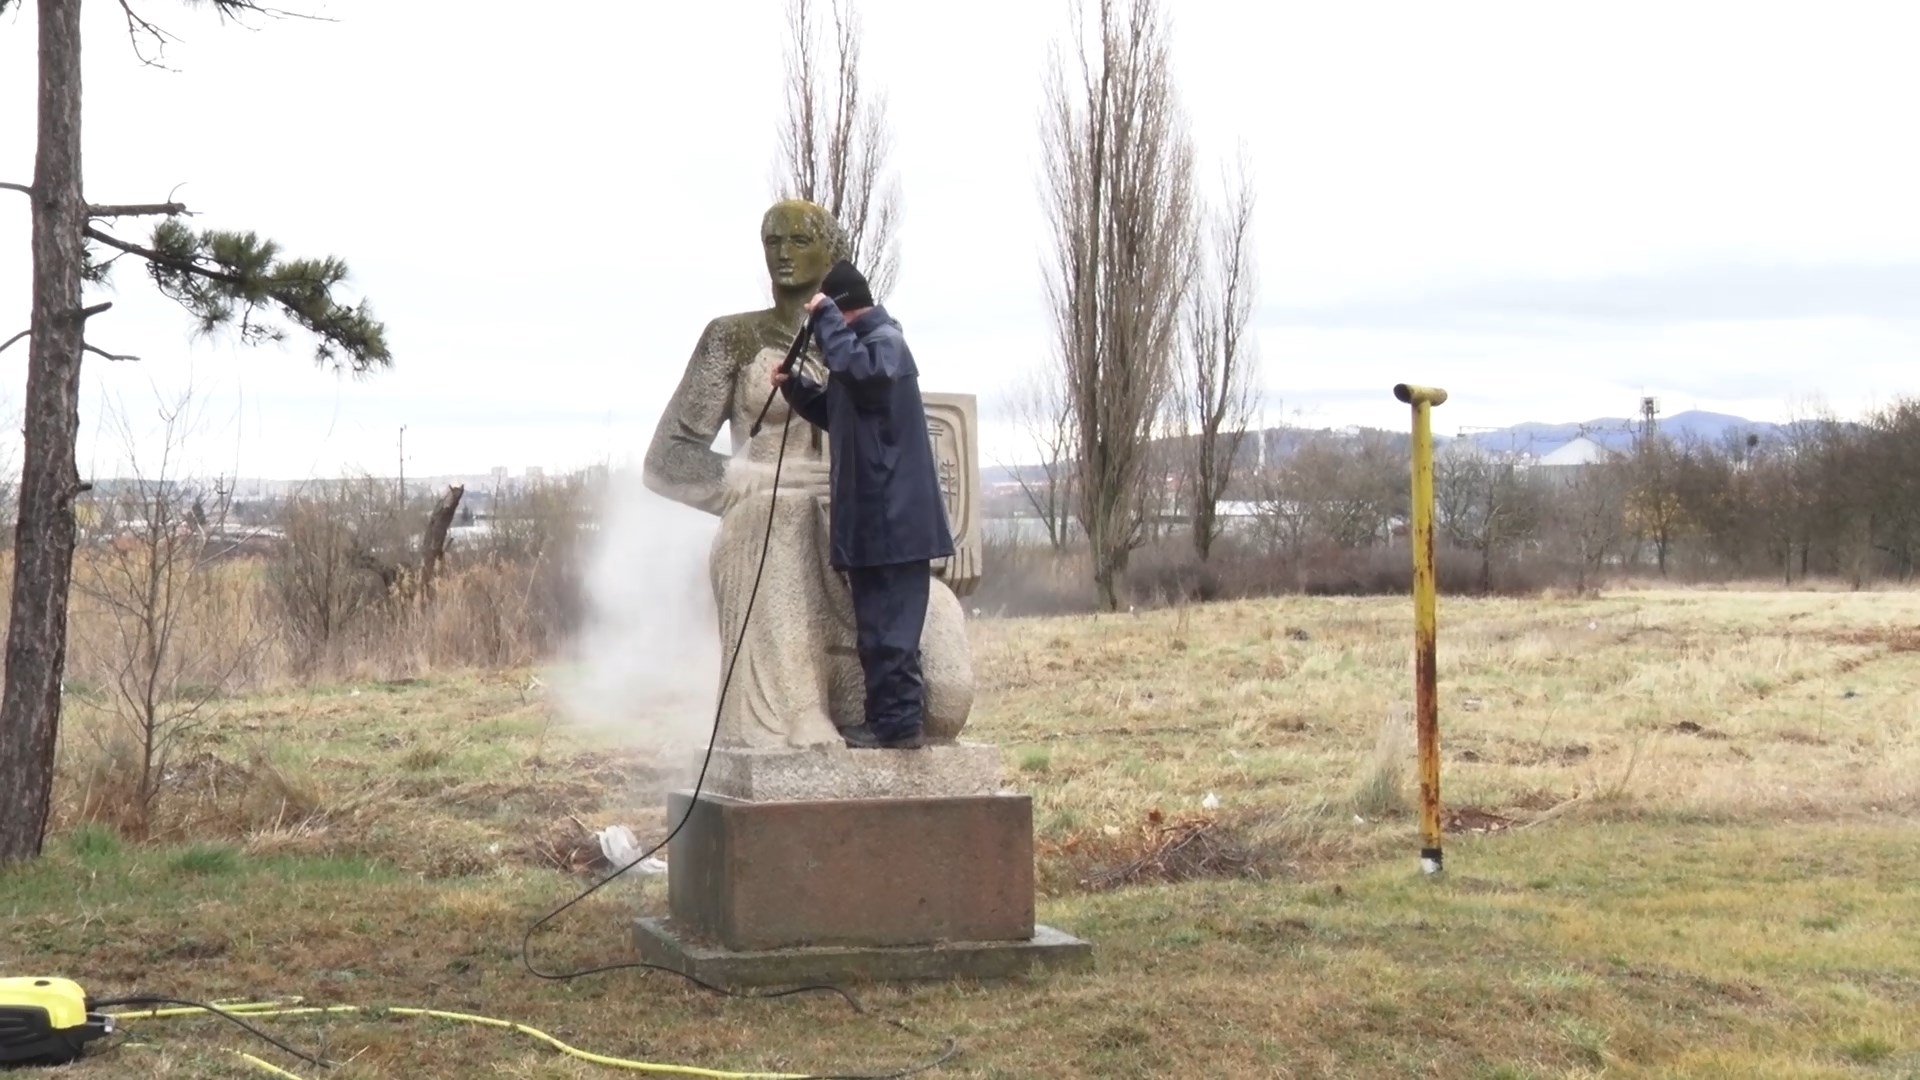
[[[1154,471],[1150,486],[1160,496],[1150,503],[1171,527],[1144,552],[1146,565],[1129,573],[1137,580],[1127,596],[1405,590],[1407,436],[1267,430],[1246,442],[1256,438],[1279,448],[1260,465],[1260,454],[1242,444],[1227,492],[1236,513],[1215,523],[1208,561],[1192,552],[1198,523],[1173,494],[1179,471]],[[1056,467],[1054,475],[1071,471]],[[1044,502],[1041,471],[1027,477],[1023,502]],[[1448,440],[1434,461],[1434,517],[1448,592],[1584,592],[1630,577],[1910,582],[1920,563],[1920,400],[1855,421],[1809,417],[1718,442],[1640,432],[1588,465],[1540,465],[1532,455]],[[1091,563],[1083,536],[1046,548],[1054,550],[1046,575],[1058,573],[1060,559]],[[1041,573],[1031,555],[998,553],[1012,580],[987,590],[1033,596],[1021,580]],[[1071,607],[1050,596],[1035,603]]]

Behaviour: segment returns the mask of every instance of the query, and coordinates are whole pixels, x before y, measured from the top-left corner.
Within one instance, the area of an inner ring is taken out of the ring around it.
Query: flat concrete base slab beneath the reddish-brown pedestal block
[[[1041,970],[1087,970],[1092,945],[1052,926],[1023,942],[943,942],[935,945],[828,945],[733,951],[684,936],[672,919],[634,924],[639,959],[722,990],[756,986],[841,986],[856,982],[998,980]]]

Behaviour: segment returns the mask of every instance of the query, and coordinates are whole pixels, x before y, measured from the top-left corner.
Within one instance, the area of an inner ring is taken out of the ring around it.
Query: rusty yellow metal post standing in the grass
[[[1440,700],[1434,694],[1440,615],[1434,594],[1434,429],[1446,402],[1436,386],[1394,386],[1413,405],[1413,723],[1421,755],[1421,871],[1440,872]]]

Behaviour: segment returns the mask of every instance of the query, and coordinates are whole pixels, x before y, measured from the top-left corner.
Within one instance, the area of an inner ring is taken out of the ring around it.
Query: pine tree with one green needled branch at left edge
[[[0,12],[10,8],[0,0]],[[221,17],[280,13],[253,0],[213,0]],[[386,367],[386,329],[367,306],[334,298],[348,277],[338,259],[282,259],[253,233],[194,233],[177,202],[92,206],[81,169],[81,0],[38,0],[38,142],[33,183],[0,183],[33,206],[33,321],[25,331],[25,444],[15,527],[13,596],[8,621],[6,690],[0,696],[0,863],[40,853],[52,807],[60,682],[67,663],[67,596],[73,582],[73,503],[86,484],[75,465],[81,357],[134,359],[86,340],[88,321],[111,304],[86,306],[83,288],[132,256],[161,294],[179,302],[200,331],[238,329],[242,340],[284,334],[265,321],[278,311],[315,334],[323,363],[355,373]],[[167,33],[121,0],[138,50],[163,46]],[[142,60],[146,60],[142,56]],[[108,233],[98,221],[161,217],[148,244]],[[96,261],[88,242],[111,248]],[[12,344],[19,336],[0,342]]]

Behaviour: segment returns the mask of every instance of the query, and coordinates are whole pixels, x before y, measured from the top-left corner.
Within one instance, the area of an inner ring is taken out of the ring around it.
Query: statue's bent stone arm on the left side
[[[726,509],[726,455],[712,450],[733,407],[733,371],[720,321],[707,323],[647,446],[647,490],[720,513]]]

